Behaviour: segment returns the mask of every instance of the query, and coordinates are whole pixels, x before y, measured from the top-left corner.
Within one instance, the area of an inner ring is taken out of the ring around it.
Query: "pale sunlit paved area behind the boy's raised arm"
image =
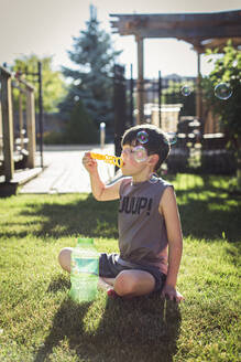
[[[81,164],[86,150],[114,155],[114,146],[106,145],[101,150],[95,146],[57,146],[44,148],[45,170],[35,179],[25,183],[20,193],[74,193],[90,192],[89,175]],[[98,169],[103,181],[114,177],[112,164],[98,161]]]

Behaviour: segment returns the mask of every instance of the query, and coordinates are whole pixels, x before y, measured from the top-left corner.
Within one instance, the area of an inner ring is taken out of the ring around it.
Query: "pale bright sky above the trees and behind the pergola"
[[[188,13],[219,12],[241,9],[241,0],[92,0],[100,28],[111,34],[110,13]],[[67,51],[73,49],[73,36],[86,29],[90,1],[87,0],[0,0],[0,64],[12,64],[14,58],[36,54],[53,56],[53,68],[73,67]],[[122,50],[119,63],[130,76],[130,64],[136,76],[136,42],[134,36],[111,34],[113,46]],[[175,39],[144,41],[144,77],[162,75],[197,75],[197,55],[191,45]],[[211,65],[201,55],[201,73]]]

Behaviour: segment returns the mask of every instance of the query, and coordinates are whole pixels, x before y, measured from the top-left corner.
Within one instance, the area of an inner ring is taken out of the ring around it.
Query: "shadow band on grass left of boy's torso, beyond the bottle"
[[[98,202],[90,194],[78,196],[70,202],[28,203],[28,210],[21,215],[40,217],[39,227],[33,226],[32,233],[39,237],[78,236],[117,238],[116,201]],[[29,232],[31,230],[29,228]]]

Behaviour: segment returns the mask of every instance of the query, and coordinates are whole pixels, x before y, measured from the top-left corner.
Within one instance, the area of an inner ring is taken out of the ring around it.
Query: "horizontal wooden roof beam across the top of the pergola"
[[[241,35],[241,10],[182,14],[110,14],[120,35],[209,39]]]

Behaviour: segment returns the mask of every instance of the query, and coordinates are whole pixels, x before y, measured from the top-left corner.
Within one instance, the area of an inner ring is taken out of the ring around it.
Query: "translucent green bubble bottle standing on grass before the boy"
[[[73,300],[90,301],[97,295],[99,254],[92,238],[78,238],[72,252],[69,296]]]

